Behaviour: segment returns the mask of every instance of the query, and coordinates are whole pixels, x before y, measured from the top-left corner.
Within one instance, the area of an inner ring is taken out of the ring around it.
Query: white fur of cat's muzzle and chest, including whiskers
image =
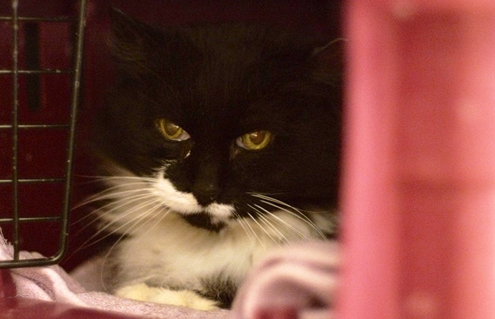
[[[238,286],[272,248],[301,239],[322,239],[335,226],[330,212],[303,214],[261,194],[252,196],[277,210],[252,204],[248,206],[257,217],[241,218],[232,205],[200,206],[191,193],[175,189],[163,172],[153,178],[120,173],[122,177],[107,178],[108,189],[89,200],[111,199],[97,211],[102,231],[128,236],[111,250],[104,271],[113,290],[147,283],[203,292],[205,281],[218,279]],[[207,213],[213,222],[226,226],[219,232],[192,226],[184,220],[192,213]]]

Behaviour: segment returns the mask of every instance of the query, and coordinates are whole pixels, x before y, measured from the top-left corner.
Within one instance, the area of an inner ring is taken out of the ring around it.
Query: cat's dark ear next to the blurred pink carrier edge
[[[336,38],[323,47],[316,47],[310,58],[312,75],[318,80],[334,82],[344,71],[344,45],[346,40]]]

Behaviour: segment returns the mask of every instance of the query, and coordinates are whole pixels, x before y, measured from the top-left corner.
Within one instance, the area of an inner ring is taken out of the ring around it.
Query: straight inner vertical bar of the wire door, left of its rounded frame
[[[19,172],[17,167],[17,159],[19,155],[18,149],[18,132],[19,132],[19,14],[17,9],[19,2],[12,0],[12,70],[13,70],[13,89],[12,89],[12,189],[13,189],[13,204],[14,204],[14,261],[19,260]]]

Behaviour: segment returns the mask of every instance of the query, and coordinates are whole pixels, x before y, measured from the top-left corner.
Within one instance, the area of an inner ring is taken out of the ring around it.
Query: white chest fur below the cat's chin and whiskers
[[[123,276],[120,283],[148,281],[189,290],[202,290],[202,279],[214,276],[239,283],[270,248],[301,237],[317,237],[301,220],[283,211],[277,215],[292,226],[275,231],[252,220],[233,220],[215,233],[170,213],[160,224],[122,241],[116,256]]]

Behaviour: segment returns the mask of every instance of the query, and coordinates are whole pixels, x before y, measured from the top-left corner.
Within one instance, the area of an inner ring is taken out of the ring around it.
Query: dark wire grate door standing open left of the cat
[[[0,5],[0,231],[14,251],[0,268],[49,265],[67,248],[86,1],[7,2]],[[46,241],[47,257],[22,259],[28,237]]]

